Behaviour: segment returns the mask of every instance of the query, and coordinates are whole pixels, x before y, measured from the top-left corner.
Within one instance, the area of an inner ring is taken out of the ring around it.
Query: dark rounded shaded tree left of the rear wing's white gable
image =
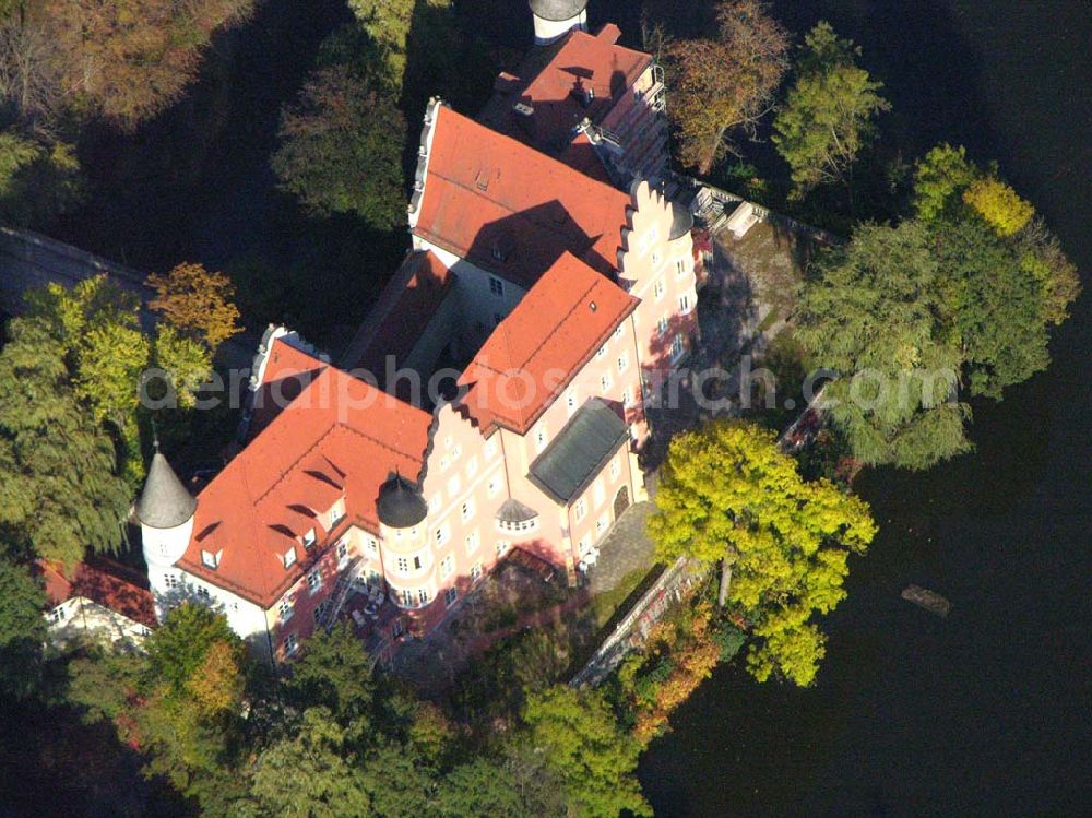
[[[283,111],[272,165],[282,189],[310,213],[353,213],[377,229],[393,229],[405,221],[405,134],[389,91],[347,66],[330,66]]]

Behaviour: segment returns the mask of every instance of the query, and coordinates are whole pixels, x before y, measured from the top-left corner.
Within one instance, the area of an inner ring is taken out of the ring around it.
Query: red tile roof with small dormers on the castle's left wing
[[[300,395],[198,496],[187,572],[263,607],[273,605],[330,543],[312,512],[346,498],[346,517],[378,530],[376,498],[391,472],[419,474],[431,415],[333,367]],[[305,553],[295,538],[314,529]],[[340,533],[340,532],[333,532]],[[296,548],[297,562],[284,566]],[[201,552],[222,552],[216,569]]]

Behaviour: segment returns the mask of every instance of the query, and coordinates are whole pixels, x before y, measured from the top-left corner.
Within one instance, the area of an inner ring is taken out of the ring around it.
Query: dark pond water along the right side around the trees
[[[1092,287],[1092,4],[816,0],[865,49],[907,155],[996,158]],[[1054,364],[975,407],[974,454],[865,474],[882,525],[829,619],[814,689],[724,669],[674,718],[641,779],[661,818],[1092,815],[1092,297]],[[947,620],[899,598],[917,582]]]

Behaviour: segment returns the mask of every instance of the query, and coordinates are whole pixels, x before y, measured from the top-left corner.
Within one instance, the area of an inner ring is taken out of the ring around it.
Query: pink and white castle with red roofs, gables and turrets
[[[584,3],[532,3],[536,26],[562,5],[563,49]],[[195,498],[153,458],[136,515],[159,612],[207,601],[284,660],[363,589],[384,655],[517,550],[575,581],[646,496],[644,401],[697,339],[689,212],[434,99],[408,222],[337,366],[266,333],[249,442]]]

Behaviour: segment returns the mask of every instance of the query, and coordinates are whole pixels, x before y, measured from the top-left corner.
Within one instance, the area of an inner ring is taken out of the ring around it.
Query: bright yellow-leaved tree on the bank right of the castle
[[[755,677],[810,685],[826,652],[814,617],[845,598],[848,556],[876,534],[868,505],[805,482],[772,432],[716,422],[672,441],[656,506],[649,531],[662,559],[720,564],[720,604],[758,637]]]

